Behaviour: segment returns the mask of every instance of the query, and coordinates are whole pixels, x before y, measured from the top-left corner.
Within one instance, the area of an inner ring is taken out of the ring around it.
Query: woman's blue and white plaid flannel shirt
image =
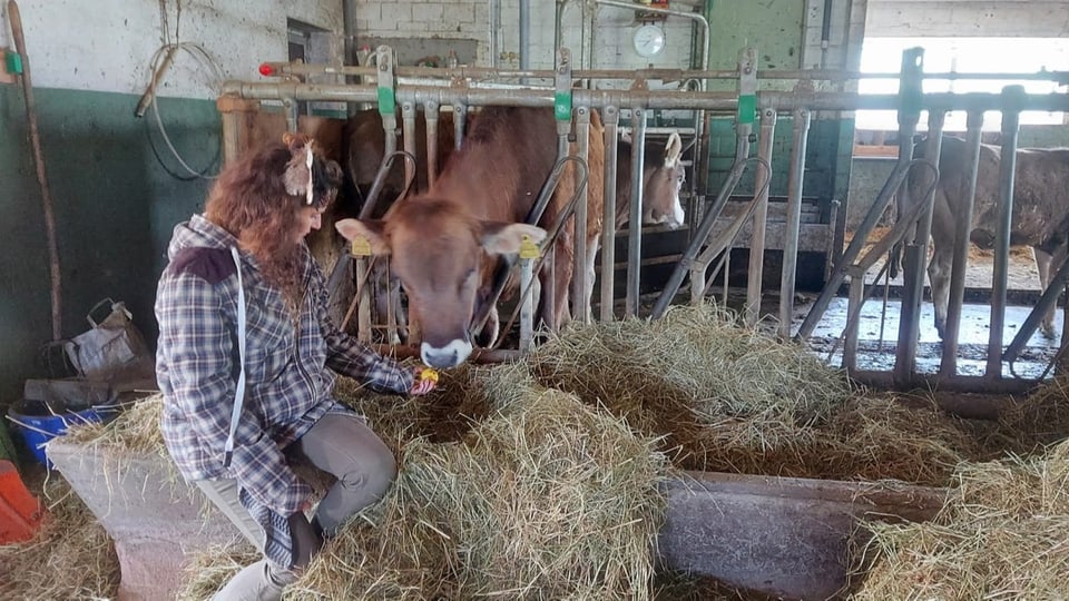
[[[160,430],[184,477],[236,479],[246,506],[259,505],[254,515],[266,509],[284,521],[312,494],[290,469],[284,449],[327,412],[345,411],[332,397],[332,370],[401,394],[411,390],[414,374],[337,329],[326,311],[323,274],[306,248],[307,293],[296,317],[282,292],[263,279],[255,258],[242,254],[247,386],[234,456],[225,467],[239,367],[237,275],[229,252],[236,245],[199,215],[175,228],[156,296],[157,380],[165,398]]]

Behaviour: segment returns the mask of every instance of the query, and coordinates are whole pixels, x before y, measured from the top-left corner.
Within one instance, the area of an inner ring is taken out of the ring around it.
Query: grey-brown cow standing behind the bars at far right
[[[926,142],[918,145],[914,156],[923,158]],[[999,161],[1001,148],[980,146],[980,162],[977,167],[977,196],[972,217],[970,240],[980,247],[991,248],[994,243],[998,220]],[[965,140],[943,136],[939,158],[939,185],[932,211],[932,259],[928,276],[935,305],[935,329],[940,337],[947,325],[947,305],[950,300],[950,272],[953,260],[953,240],[957,219],[963,214],[969,155]],[[921,198],[929,178],[910,178],[911,198]],[[1017,151],[1017,173],[1013,186],[1013,216],[1010,244],[1032,247],[1043,289],[1051,275],[1066,258],[1069,203],[1063,196],[1069,188],[1069,148],[1021,148]],[[901,207],[900,207],[901,215]],[[1053,312],[1043,316],[1041,332],[1053,337]]]

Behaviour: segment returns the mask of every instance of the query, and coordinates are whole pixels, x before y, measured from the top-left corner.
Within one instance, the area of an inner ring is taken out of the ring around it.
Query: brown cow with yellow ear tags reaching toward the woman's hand
[[[597,114],[588,139],[589,250],[597,248],[602,213],[605,148]],[[516,254],[524,236],[533,242],[546,236],[543,228],[522,221],[556,160],[552,109],[487,107],[426,194],[408,198],[383,220],[336,224],[346,238],[364,236],[375,254],[392,255],[394,273],[409,295],[409,311],[421,326],[425,364],[452,367],[471,354],[470,329],[491,284],[496,264],[491,257]],[[549,227],[571,197],[571,171],[569,165],[540,225]],[[540,308],[551,328],[570,317],[572,244],[569,226],[551,249],[556,268],[539,274],[542,289],[553,290],[552,298],[542,295]],[[550,272],[552,283],[547,280]],[[594,273],[592,252],[588,273]],[[491,322],[496,328],[496,318]]]

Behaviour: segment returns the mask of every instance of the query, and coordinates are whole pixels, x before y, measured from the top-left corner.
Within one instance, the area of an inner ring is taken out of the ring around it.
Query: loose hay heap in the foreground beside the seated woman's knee
[[[461,442],[409,442],[388,497],[287,599],[650,597],[665,511],[654,442],[521,366],[481,375],[490,417]]]

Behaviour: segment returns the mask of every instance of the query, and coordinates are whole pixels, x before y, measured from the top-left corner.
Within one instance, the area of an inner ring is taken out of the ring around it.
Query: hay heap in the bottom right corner
[[[854,599],[1069,598],[1069,442],[1031,459],[962,464],[929,523],[869,524]]]

